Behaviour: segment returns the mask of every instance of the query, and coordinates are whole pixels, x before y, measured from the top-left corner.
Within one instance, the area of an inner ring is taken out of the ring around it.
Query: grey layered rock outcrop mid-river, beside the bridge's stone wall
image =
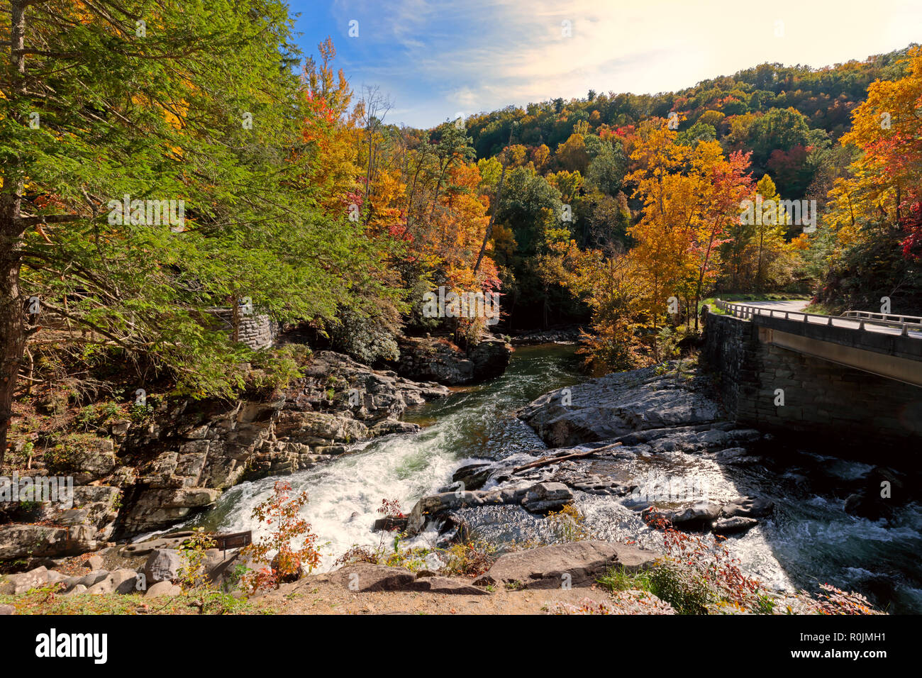
[[[550,448],[456,470],[450,487],[413,507],[407,530],[434,526],[443,542],[451,541],[470,532],[460,509],[513,505],[540,515],[573,502],[574,493],[626,497],[648,520],[665,518],[680,529],[750,529],[771,515],[771,501],[658,493],[621,473],[629,462],[664,452],[707,455],[727,465],[756,461],[747,446],[762,434],[727,421],[711,393],[706,378],[663,367],[550,391],[517,412]]]

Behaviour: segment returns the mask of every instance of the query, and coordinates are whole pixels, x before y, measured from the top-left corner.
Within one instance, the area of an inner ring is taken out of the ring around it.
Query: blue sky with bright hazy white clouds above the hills
[[[290,0],[385,123],[598,93],[691,87],[763,62],[834,65],[922,42],[922,0]]]

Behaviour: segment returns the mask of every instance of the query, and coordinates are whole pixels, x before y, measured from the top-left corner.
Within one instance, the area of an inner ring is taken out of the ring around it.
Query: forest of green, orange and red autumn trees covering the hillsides
[[[35,383],[232,398],[243,364],[293,369],[237,340],[242,308],[374,364],[479,341],[427,293],[498,292],[493,331],[581,324],[607,370],[672,355],[721,293],[922,314],[916,45],[415,129],[332,40],[300,54],[280,0],[9,7],[0,458]]]

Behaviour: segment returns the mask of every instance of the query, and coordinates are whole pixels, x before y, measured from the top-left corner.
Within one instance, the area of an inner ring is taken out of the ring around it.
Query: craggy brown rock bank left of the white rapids
[[[53,463],[46,455],[15,475],[6,470],[10,494],[13,481],[27,496],[28,486],[55,474],[75,486],[72,502],[5,505],[0,562],[36,565],[169,528],[242,480],[310,469],[359,441],[417,431],[400,421],[403,412],[448,393],[319,351],[303,377],[267,398],[170,400],[143,422],[115,420],[65,438]]]

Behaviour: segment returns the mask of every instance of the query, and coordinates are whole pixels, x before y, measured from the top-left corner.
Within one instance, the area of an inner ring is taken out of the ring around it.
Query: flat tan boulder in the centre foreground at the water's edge
[[[610,567],[621,565],[629,572],[654,564],[656,554],[608,541],[572,541],[538,549],[504,553],[475,586],[509,585],[522,589],[560,589],[592,586]]]

